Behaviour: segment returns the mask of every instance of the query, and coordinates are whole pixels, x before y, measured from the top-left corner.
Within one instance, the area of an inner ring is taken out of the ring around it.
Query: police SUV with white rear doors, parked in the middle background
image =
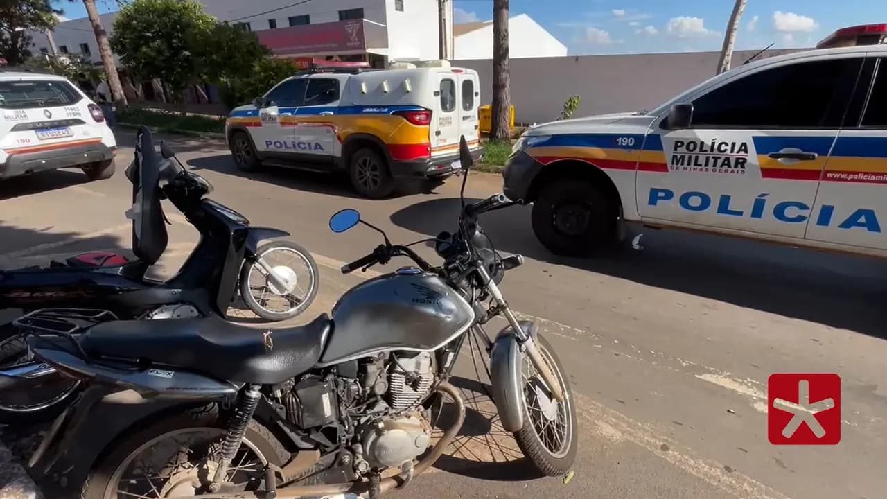
[[[359,194],[459,170],[459,138],[479,157],[477,73],[445,60],[389,69],[312,67],[232,110],[225,136],[241,170],[344,170]]]

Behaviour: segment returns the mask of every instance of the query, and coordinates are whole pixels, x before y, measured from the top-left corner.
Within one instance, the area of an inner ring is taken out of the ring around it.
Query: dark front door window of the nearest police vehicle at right
[[[820,128],[841,125],[862,58],[773,67],[693,101],[693,128]]]

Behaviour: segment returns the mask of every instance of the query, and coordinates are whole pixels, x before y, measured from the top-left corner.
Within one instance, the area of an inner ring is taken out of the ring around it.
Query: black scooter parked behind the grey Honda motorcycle
[[[133,221],[132,249],[137,259],[93,252],[69,258],[68,265],[3,271],[0,307],[41,311],[20,318],[17,324],[39,326],[60,317],[88,323],[225,317],[238,289],[251,311],[267,321],[283,321],[302,313],[317,296],[318,268],[306,249],[279,239],[261,243],[289,233],[250,226],[247,218],[208,199],[206,195],[213,191],[209,182],[185,170],[165,143],[161,142],[158,159],[151,131],[145,127],[137,132],[135,159],[126,175],[133,185],[128,215]],[[169,199],[200,232],[197,247],[165,282],[145,277],[169,241],[161,199]],[[272,257],[276,256],[290,261],[275,265]],[[307,272],[300,278],[294,268]],[[270,298],[284,301],[283,310],[273,309]],[[95,310],[96,305],[102,309]],[[29,357],[19,335],[0,342],[0,423],[57,416],[76,391],[76,383]]]

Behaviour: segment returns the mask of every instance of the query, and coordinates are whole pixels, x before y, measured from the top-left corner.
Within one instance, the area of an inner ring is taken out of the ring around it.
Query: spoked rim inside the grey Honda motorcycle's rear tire
[[[225,432],[184,428],[165,432],[131,452],[108,481],[104,499],[167,499],[208,494]],[[253,491],[264,479],[268,459],[244,440],[220,493]]]

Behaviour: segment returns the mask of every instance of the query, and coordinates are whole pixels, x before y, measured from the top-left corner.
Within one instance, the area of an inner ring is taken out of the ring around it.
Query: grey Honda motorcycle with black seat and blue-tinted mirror
[[[464,137],[460,155],[467,170]],[[522,257],[498,255],[477,222],[511,204],[463,196],[459,231],[436,238],[440,266],[356,210],[339,211],[334,233],[363,225],[384,240],[342,273],[394,257],[415,265],[349,289],[332,318],[304,326],[256,334],[206,317],[104,322],[79,339],[35,331],[35,355],[89,386],[45,433],[29,471],[82,483],[84,499],[377,497],[428,470],[458,434],[465,404],[448,379],[468,335],[490,352],[506,431],[542,473],[569,471],[578,440],[567,376],[498,288]],[[483,324],[498,315],[508,326],[492,339]],[[445,397],[455,416],[432,445]]]

